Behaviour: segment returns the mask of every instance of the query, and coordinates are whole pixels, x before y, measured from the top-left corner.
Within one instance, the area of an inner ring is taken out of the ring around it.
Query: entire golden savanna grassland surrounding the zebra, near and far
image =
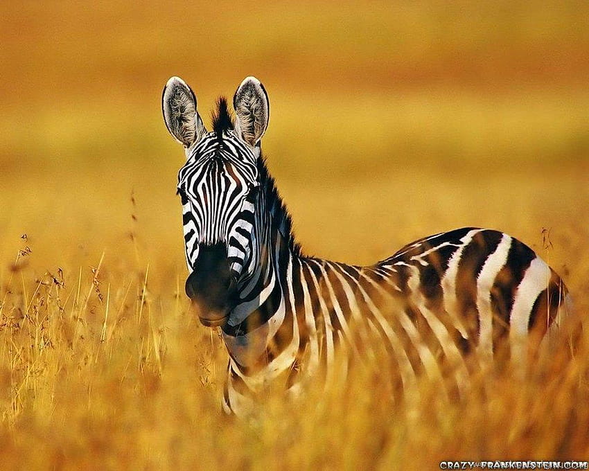
[[[276,394],[256,421],[223,416],[226,353],[184,295],[184,157],[160,112],[170,75],[207,125],[256,75],[306,253],[366,264],[493,227],[549,260],[583,319],[586,2],[4,2],[0,63],[1,469],[589,458],[587,328],[457,404],[424,380],[398,411],[374,365],[347,389]]]

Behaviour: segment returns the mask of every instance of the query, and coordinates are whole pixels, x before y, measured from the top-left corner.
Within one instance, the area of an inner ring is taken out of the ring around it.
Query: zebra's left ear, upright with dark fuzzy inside
[[[176,141],[188,148],[206,132],[196,111],[196,96],[179,77],[172,77],[161,94],[161,111],[168,131]]]

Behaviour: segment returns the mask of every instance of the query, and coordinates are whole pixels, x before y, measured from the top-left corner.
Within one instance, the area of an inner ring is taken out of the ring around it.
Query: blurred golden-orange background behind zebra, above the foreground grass
[[[5,261],[26,233],[31,263],[182,269],[170,75],[207,124],[263,82],[263,151],[310,254],[369,263],[466,225],[564,242],[588,222],[585,1],[4,2],[0,44]]]

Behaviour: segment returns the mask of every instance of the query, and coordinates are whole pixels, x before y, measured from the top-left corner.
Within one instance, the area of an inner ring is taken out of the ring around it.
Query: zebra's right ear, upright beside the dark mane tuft
[[[237,134],[252,147],[256,146],[270,118],[268,95],[257,78],[247,77],[241,82],[233,97],[233,107]]]

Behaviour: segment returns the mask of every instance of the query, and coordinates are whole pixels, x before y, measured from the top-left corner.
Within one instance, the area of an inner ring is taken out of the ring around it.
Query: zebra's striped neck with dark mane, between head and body
[[[260,172],[263,193],[256,213],[263,220],[258,227],[267,228],[261,234],[260,261],[254,277],[241,290],[239,305],[222,327],[231,369],[247,375],[285,371],[308,341],[306,313],[301,310],[307,285],[301,267],[308,259],[294,240],[290,215],[274,179],[263,164]]]

